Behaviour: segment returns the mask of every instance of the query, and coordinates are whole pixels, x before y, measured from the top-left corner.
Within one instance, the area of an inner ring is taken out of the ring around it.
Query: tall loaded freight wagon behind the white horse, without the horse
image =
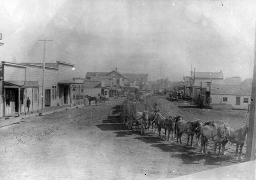
[[[135,116],[136,113],[142,112],[142,110],[145,109],[146,104],[125,98],[122,104],[122,124],[126,125],[129,128],[129,130],[132,130],[133,126],[136,125],[137,121]]]

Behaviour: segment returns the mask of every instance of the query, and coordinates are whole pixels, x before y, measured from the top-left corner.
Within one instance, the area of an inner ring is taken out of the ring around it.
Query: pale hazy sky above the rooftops
[[[196,71],[252,78],[253,0],[1,1],[1,61],[64,61],[88,71],[181,81]]]

